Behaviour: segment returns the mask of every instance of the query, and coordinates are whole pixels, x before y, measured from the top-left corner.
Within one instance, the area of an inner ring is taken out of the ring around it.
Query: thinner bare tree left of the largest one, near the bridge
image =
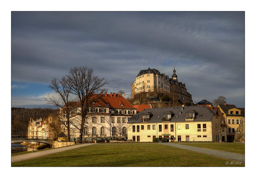
[[[67,141],[70,141],[69,112],[72,109],[72,102],[70,93],[71,90],[68,87],[66,76],[63,76],[61,79],[54,77],[48,87],[55,91],[55,94],[58,95],[58,98],[56,95],[48,94],[46,97],[44,97],[44,99],[47,101],[47,104],[53,104],[60,107],[62,113],[59,114],[59,124],[62,124],[67,128]]]

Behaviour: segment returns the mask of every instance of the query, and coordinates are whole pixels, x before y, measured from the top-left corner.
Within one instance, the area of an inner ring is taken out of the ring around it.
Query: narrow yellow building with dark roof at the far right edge
[[[234,142],[235,133],[241,119],[244,117],[244,108],[237,108],[235,105],[219,104],[220,112],[226,119],[227,123],[227,141]]]

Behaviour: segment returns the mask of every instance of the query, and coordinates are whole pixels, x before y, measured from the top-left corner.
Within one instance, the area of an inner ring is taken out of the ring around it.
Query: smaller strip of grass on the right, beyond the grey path
[[[208,149],[220,150],[220,151],[228,151],[228,152],[239,153],[239,154],[245,153],[244,143],[187,143],[187,144],[184,143],[183,145],[200,147],[200,148],[208,148]]]

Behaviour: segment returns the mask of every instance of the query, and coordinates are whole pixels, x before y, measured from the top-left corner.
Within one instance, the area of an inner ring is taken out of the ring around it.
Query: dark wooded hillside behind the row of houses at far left
[[[34,109],[25,109],[25,108],[15,108],[12,107],[12,118],[11,118],[11,130],[12,135],[20,135],[19,131],[23,131],[23,135],[25,135],[28,128],[28,122],[30,118],[39,119],[48,118],[49,114],[57,113],[59,109],[51,109],[51,108],[34,108]]]

